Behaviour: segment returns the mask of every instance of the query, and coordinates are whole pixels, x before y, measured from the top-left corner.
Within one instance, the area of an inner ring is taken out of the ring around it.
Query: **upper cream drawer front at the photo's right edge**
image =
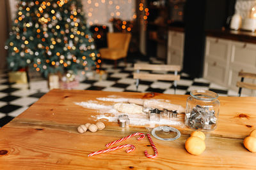
[[[243,67],[256,67],[256,45],[251,43],[232,43],[230,64]]]

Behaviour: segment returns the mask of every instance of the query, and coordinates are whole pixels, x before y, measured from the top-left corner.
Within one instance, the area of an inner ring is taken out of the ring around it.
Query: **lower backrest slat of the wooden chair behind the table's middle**
[[[133,78],[144,80],[180,80],[180,75],[175,74],[150,74],[150,73],[133,73]]]

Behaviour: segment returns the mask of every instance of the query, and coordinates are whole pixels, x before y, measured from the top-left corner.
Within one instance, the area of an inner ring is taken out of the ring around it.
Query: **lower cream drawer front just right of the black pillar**
[[[225,64],[216,60],[205,60],[204,78],[220,85],[227,84],[227,69]]]

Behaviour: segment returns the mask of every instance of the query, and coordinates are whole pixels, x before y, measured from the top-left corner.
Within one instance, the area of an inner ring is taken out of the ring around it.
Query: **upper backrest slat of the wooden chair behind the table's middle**
[[[164,64],[134,64],[134,69],[153,70],[153,71],[180,71],[179,65],[164,65]]]

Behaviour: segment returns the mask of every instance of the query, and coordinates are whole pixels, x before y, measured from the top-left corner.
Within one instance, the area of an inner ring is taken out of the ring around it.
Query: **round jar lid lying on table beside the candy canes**
[[[156,131],[164,131],[164,132],[177,132],[177,136],[175,136],[174,138],[160,138],[159,136],[157,136],[156,134]],[[179,139],[180,138],[180,131],[174,127],[170,127],[170,126],[159,126],[159,127],[155,127],[153,130],[152,130],[152,135],[159,139],[159,140],[162,140],[162,141],[174,141],[176,139]]]

